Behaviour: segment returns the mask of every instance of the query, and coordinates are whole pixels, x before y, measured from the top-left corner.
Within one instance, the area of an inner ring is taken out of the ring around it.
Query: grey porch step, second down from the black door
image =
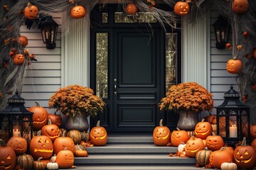
[[[88,154],[166,154],[176,153],[177,147],[159,147],[153,143],[109,143],[102,147],[87,147]]]

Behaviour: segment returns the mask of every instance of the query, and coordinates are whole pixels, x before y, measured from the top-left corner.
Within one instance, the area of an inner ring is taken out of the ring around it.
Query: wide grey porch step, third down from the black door
[[[168,154],[102,154],[75,157],[75,164],[196,164],[195,158],[169,157]]]

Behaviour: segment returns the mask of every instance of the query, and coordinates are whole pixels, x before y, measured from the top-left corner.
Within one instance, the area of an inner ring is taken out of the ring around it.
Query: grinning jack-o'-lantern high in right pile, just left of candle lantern
[[[206,137],[211,135],[213,132],[213,127],[210,123],[205,122],[204,119],[196,124],[195,135],[196,137],[201,138],[202,140],[206,140]]]

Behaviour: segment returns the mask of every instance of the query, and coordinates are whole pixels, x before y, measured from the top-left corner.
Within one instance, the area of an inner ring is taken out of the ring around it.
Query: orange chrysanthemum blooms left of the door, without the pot
[[[95,117],[103,111],[105,102],[95,96],[92,89],[85,86],[70,85],[60,88],[50,97],[49,108],[55,108],[65,116],[74,117],[81,113]]]

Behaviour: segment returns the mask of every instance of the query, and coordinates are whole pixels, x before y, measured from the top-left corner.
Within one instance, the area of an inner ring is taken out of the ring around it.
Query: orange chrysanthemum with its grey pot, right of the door
[[[196,82],[174,85],[161,98],[159,108],[179,113],[177,127],[181,130],[194,130],[198,113],[213,110],[213,94]]]

